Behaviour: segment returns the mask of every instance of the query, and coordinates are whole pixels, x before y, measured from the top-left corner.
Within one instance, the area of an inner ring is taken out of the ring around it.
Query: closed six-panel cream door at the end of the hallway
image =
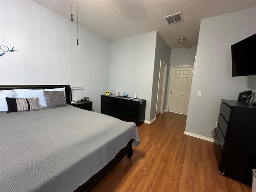
[[[193,66],[173,67],[168,111],[187,114]]]

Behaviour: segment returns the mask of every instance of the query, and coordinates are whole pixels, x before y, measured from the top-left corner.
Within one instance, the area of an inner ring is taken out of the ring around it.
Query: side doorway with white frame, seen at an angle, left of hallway
[[[159,70],[159,80],[158,80],[156,115],[159,113],[163,113],[165,83],[166,83],[166,69],[167,69],[167,64],[161,60],[160,70]]]

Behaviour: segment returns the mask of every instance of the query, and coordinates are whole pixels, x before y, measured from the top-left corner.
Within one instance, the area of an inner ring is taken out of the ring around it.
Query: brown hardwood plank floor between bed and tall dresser
[[[165,112],[138,127],[141,144],[92,192],[251,192],[218,172],[213,143],[183,134],[186,116]]]

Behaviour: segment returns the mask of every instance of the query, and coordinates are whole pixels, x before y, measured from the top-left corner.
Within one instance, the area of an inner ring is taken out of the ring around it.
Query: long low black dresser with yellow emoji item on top
[[[134,122],[136,126],[145,120],[146,100],[124,96],[101,96],[101,113],[127,122]]]

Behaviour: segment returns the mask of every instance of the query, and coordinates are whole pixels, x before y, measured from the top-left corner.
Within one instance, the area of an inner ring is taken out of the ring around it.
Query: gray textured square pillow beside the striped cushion
[[[66,106],[64,91],[43,91],[47,101],[47,108]]]

